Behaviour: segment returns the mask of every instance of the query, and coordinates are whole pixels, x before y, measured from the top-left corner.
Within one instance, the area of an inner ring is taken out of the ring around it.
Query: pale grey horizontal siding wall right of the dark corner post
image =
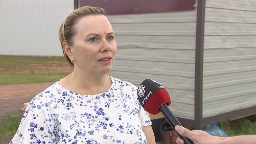
[[[206,0],[203,117],[256,105],[256,0]]]

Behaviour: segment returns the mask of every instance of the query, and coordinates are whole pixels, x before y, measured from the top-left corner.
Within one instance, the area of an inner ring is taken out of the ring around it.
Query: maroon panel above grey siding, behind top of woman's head
[[[80,0],[80,7],[97,6],[109,15],[195,10],[195,0]]]

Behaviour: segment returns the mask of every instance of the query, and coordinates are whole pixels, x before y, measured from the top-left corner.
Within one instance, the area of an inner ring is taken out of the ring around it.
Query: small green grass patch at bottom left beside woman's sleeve
[[[21,117],[6,115],[0,123],[0,136],[13,136],[19,127]]]

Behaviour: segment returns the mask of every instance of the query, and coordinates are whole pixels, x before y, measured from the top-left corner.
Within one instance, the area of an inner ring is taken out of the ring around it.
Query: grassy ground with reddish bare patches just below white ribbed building
[[[35,64],[41,67],[34,67]],[[48,67],[49,70],[55,67],[59,72],[49,72]],[[68,68],[63,57],[0,56],[0,85],[54,82],[68,75]]]

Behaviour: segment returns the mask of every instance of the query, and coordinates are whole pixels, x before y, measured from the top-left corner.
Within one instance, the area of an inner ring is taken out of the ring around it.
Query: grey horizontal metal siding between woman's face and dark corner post
[[[109,17],[117,41],[109,74],[136,86],[160,82],[174,114],[194,119],[196,10]]]

